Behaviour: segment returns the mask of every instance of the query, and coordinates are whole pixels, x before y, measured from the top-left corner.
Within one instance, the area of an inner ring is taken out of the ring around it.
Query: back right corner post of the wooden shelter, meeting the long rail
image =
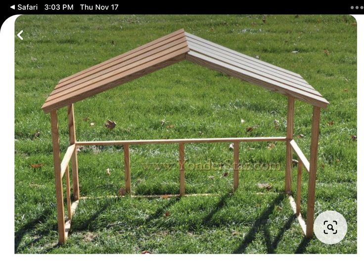
[[[292,182],[292,147],[290,141],[293,139],[293,115],[294,115],[294,98],[288,96],[287,110],[287,141],[286,141],[286,179],[285,192],[291,194]]]

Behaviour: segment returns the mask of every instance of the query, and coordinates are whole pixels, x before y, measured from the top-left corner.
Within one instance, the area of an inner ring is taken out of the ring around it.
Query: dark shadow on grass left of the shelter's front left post
[[[18,252],[19,244],[20,244],[21,240],[23,239],[24,235],[27,232],[34,231],[38,224],[46,222],[46,220],[49,218],[50,215],[51,215],[51,210],[49,208],[47,208],[47,209],[43,210],[43,212],[37,218],[27,222],[18,231],[15,231],[15,253]],[[46,232],[46,231],[39,231],[37,233],[40,235],[44,235],[43,234],[44,232]],[[29,244],[26,244],[25,247],[29,246],[30,244],[34,243],[34,241],[38,241],[38,240],[39,239],[37,238],[37,239],[31,241]],[[23,246],[22,249],[24,249],[25,247]]]

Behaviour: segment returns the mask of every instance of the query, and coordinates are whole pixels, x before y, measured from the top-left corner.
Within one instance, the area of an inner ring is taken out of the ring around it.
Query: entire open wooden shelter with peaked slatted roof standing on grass
[[[182,60],[217,70],[232,77],[263,86],[269,90],[287,96],[287,134],[285,137],[257,137],[257,138],[202,138],[202,139],[167,139],[167,140],[124,140],[124,141],[86,141],[76,139],[75,118],[73,104],[85,98],[103,92],[122,83],[142,77],[161,68],[170,66]],[[293,140],[293,117],[295,100],[301,100],[313,105],[312,137],[310,161],[302,153]],[[233,143],[233,190],[239,185],[239,143],[281,141],[286,143],[285,192],[291,201],[295,214],[307,237],[313,236],[315,183],[318,156],[318,133],[320,109],[326,108],[329,103],[314,89],[303,77],[249,57],[234,50],[228,49],[208,40],[184,32],[183,29],[172,34],[158,38],[145,45],[137,47],[124,54],[116,56],[103,63],[95,65],[70,77],[63,78],[50,93],[42,109],[50,113],[51,133],[53,143],[53,159],[57,200],[59,242],[65,242],[70,228],[72,213],[77,207],[80,198],[79,176],[77,164],[77,146],[89,145],[123,145],[125,158],[125,187],[131,194],[131,169],[129,147],[135,144],[179,144],[180,152],[180,195],[185,194],[184,182],[184,144],[186,143]],[[57,110],[67,107],[69,144],[63,160],[60,159],[59,134]],[[295,203],[291,196],[292,182],[292,154],[298,155],[297,197]],[[69,161],[72,167],[73,203],[71,202],[71,188],[69,176]],[[307,225],[300,213],[301,175],[302,168],[309,173]],[[62,178],[66,175],[67,190],[67,221],[65,222]],[[306,227],[305,227],[306,226]]]

